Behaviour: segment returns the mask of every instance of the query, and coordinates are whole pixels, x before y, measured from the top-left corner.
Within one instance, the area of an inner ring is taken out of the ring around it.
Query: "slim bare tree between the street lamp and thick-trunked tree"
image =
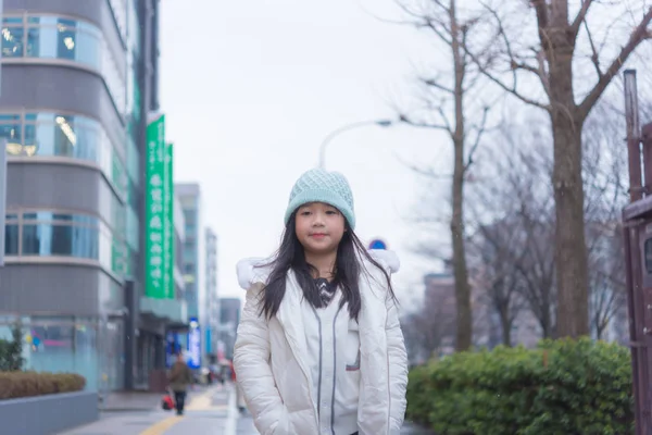
[[[418,78],[423,96],[422,110],[403,113],[401,120],[413,126],[444,132],[453,145],[450,232],[457,319],[455,349],[466,350],[473,343],[473,312],[466,264],[464,182],[486,129],[488,112],[488,105],[475,104],[476,101],[481,101],[477,95],[475,101],[469,98],[480,77],[477,71],[469,67],[467,49],[464,47],[475,20],[462,17],[455,0],[398,0],[398,4],[409,16],[410,24],[430,32],[447,52],[443,69]],[[450,71],[442,74],[444,69]],[[423,169],[415,170],[427,173]]]

